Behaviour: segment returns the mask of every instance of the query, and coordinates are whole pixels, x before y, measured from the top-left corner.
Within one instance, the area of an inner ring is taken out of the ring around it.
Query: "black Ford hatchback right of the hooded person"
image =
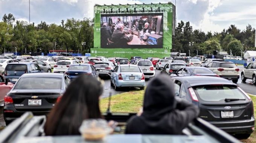
[[[238,85],[210,76],[172,79],[176,99],[187,100],[198,106],[200,118],[239,138],[248,138],[253,132],[253,102]]]

